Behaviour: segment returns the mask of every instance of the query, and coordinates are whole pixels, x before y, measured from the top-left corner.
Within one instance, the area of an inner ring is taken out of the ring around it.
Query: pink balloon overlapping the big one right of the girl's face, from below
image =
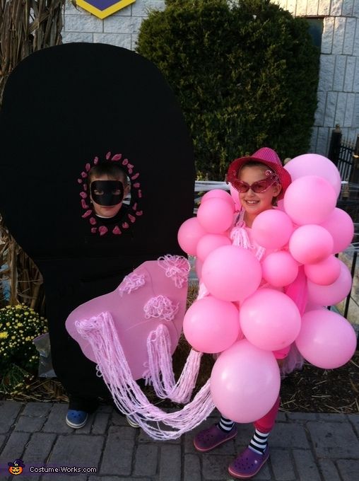
[[[314,264],[328,257],[334,241],[324,227],[315,224],[300,226],[289,240],[289,251],[301,264]]]

